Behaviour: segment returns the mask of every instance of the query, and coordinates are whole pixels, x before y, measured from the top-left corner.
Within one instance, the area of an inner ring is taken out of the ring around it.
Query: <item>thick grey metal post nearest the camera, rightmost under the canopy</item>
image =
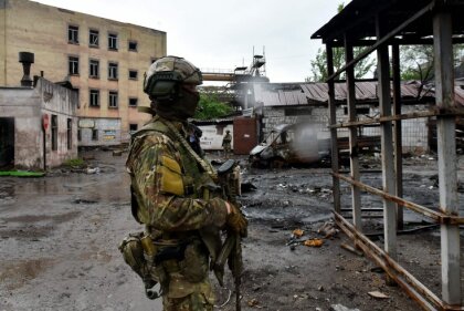
[[[435,54],[435,100],[439,107],[454,105],[452,17],[439,11],[433,17]],[[447,215],[458,215],[455,117],[437,116],[437,152],[440,208]],[[449,304],[461,304],[460,228],[441,225],[442,296]]]

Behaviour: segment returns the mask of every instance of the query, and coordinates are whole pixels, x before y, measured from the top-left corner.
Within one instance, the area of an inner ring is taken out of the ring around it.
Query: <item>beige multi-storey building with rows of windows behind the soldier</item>
[[[78,91],[81,146],[125,142],[149,115],[144,73],[166,55],[166,32],[44,6],[0,0],[0,85],[22,76],[21,51],[35,54],[31,75]]]

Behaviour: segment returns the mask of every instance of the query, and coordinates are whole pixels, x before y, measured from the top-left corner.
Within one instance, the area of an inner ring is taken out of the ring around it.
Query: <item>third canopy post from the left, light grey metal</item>
[[[383,20],[376,18],[377,40],[384,35]],[[379,106],[380,116],[391,115],[391,95],[390,95],[390,61],[388,45],[380,45],[377,50],[378,77],[379,77]],[[389,194],[396,193],[394,183],[394,162],[393,162],[393,135],[391,121],[383,122],[380,125],[381,146],[382,146],[382,186]],[[397,259],[397,209],[396,204],[383,199],[383,230],[384,230],[384,250],[393,259]]]

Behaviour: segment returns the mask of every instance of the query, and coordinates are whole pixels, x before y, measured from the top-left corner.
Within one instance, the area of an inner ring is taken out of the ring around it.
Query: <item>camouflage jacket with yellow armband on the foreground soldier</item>
[[[220,197],[204,196],[214,185],[180,144],[169,121],[156,116],[133,135],[126,167],[130,175],[134,217],[162,232],[190,231],[225,222],[226,206]],[[187,136],[187,125],[170,122]]]

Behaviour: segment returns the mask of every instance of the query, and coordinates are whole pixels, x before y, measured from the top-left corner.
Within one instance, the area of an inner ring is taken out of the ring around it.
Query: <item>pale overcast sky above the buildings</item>
[[[300,82],[321,46],[310,35],[348,0],[35,0],[167,32],[168,54],[202,70],[266,56],[271,82]]]

